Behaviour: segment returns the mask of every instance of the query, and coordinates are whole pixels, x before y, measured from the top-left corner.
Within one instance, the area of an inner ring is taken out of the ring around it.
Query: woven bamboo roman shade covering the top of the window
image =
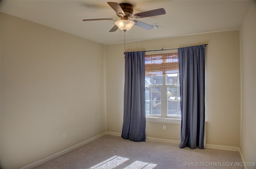
[[[159,74],[176,74],[178,72],[178,53],[145,56],[146,76]]]

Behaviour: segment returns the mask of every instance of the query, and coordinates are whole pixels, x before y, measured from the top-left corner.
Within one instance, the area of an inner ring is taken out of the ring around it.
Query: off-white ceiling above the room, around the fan
[[[165,15],[140,18],[147,24],[158,23],[162,28],[145,30],[133,26],[126,32],[126,41],[138,41],[187,34],[238,30],[252,0],[108,0],[130,3],[134,14],[158,8]],[[80,36],[101,44],[124,41],[124,32],[109,32],[114,20],[87,21],[82,19],[118,18],[106,0],[2,0],[1,12],[24,18]],[[133,18],[131,18],[133,20]]]

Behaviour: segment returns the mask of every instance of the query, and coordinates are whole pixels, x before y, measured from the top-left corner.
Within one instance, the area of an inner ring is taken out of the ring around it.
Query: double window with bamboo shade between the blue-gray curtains
[[[146,116],[180,118],[178,53],[145,56]]]

